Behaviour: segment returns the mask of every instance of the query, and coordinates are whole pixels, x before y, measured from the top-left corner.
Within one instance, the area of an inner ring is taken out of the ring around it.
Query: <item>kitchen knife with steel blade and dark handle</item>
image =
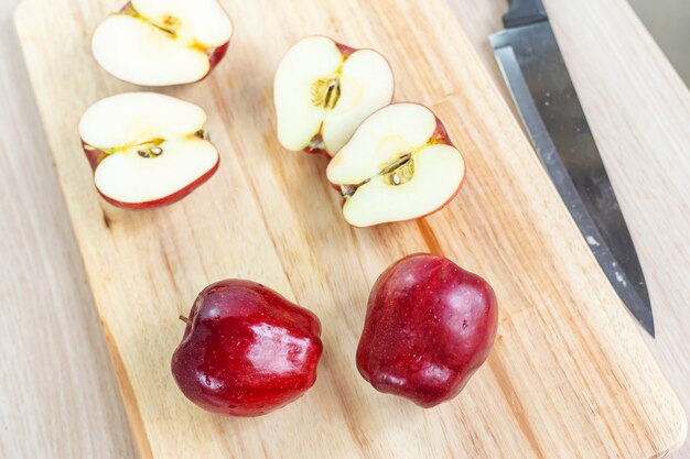
[[[490,36],[520,118],[568,210],[614,289],[655,336],[645,276],[541,0],[510,0]]]

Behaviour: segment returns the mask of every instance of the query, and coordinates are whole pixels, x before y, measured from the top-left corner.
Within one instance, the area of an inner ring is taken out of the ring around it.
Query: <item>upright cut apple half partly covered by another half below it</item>
[[[302,39],[276,73],[278,139],[287,150],[332,156],[366,117],[390,103],[393,86],[390,65],[376,51]]]

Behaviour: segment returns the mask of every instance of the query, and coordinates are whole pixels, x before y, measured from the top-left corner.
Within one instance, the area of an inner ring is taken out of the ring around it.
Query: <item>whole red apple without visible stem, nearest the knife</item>
[[[484,363],[497,321],[496,296],[482,277],[443,256],[406,256],[374,285],[357,369],[377,391],[435,406]]]

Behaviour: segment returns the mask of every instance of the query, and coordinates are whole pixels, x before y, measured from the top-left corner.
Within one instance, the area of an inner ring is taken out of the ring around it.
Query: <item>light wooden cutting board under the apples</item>
[[[15,17],[143,458],[650,458],[680,445],[676,395],[443,0],[223,3],[235,22],[226,59],[206,80],[164,90],[206,109],[220,170],[185,200],[139,212],[97,196],[77,133],[90,103],[137,90],[89,52],[94,26],[120,1],[25,0]],[[468,164],[445,210],[353,229],[326,160],[280,147],[273,73],[309,34],[381,51],[396,99],[444,121]],[[485,276],[500,303],[487,363],[456,400],[428,411],[375,392],[354,363],[369,288],[418,251]],[[316,385],[260,418],[206,414],[170,375],[177,316],[225,277],[265,283],[323,324]]]

